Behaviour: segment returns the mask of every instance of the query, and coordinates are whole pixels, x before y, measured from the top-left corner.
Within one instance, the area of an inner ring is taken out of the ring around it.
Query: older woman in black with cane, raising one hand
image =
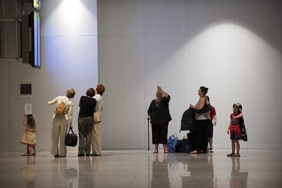
[[[157,99],[152,100],[148,109],[147,119],[151,119],[152,124],[152,141],[155,144],[153,153],[158,153],[159,144],[164,146],[164,153],[168,153],[166,148],[168,142],[168,122],[172,120],[168,108],[170,96],[160,86],[157,86],[157,89]]]

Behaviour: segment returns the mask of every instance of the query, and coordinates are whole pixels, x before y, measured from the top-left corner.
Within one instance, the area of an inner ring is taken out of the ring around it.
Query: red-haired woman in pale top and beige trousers
[[[105,92],[105,86],[103,86],[102,84],[98,84],[94,90],[95,90],[95,96],[93,98],[96,100],[98,106],[96,112],[101,112],[103,110],[102,95]],[[96,123],[93,125],[92,135],[91,135],[91,148],[92,148],[92,154],[90,154],[91,156],[101,155],[100,123]]]

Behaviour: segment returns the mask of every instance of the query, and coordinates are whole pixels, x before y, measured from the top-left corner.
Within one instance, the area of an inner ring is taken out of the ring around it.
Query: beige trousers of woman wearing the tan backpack
[[[66,116],[53,115],[52,118],[52,139],[51,139],[51,155],[59,156],[59,138],[60,138],[60,156],[67,155],[67,147],[65,139],[69,128],[69,118]]]

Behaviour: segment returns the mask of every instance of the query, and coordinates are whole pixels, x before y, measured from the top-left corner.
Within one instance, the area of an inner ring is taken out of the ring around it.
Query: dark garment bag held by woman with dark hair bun
[[[195,109],[189,108],[182,115],[180,131],[195,130],[195,124],[196,124]]]

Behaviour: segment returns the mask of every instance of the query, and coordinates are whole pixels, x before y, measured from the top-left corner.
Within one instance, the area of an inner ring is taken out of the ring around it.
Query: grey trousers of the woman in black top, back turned
[[[79,147],[78,154],[90,154],[93,116],[78,118]]]

